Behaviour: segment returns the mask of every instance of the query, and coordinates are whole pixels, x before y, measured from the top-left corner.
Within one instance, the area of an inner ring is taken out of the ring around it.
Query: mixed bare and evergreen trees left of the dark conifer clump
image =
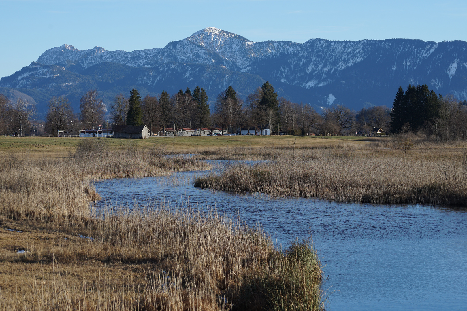
[[[32,105],[19,99],[16,105],[11,104],[7,97],[1,97],[5,110],[0,109],[2,117],[9,111],[20,110],[21,103],[26,103],[26,111],[16,124],[28,127],[28,122],[34,114]],[[3,107],[3,106],[0,106]],[[14,108],[18,107],[18,108]],[[21,106],[22,107],[22,106]],[[222,91],[212,103],[212,111],[208,104],[206,91],[195,87],[193,91],[186,88],[170,95],[163,91],[158,96],[142,98],[138,90],[133,89],[130,96],[118,94],[113,100],[109,111],[99,98],[97,90],[89,90],[80,99],[80,112],[73,112],[66,97],[52,97],[47,106],[45,117],[45,132],[57,133],[64,130],[77,133],[78,130],[96,128],[98,125],[112,127],[115,124],[142,125],[146,124],[151,132],[164,131],[167,128],[223,128],[229,132],[237,132],[243,128],[261,130],[268,128],[271,133],[281,132],[289,135],[306,135],[310,133],[341,134],[358,131],[362,126],[387,127],[384,117],[389,116],[386,108],[374,107],[362,109],[355,113],[343,105],[333,105],[323,108],[318,113],[308,103],[293,103],[284,97],[278,97],[274,86],[265,82],[245,100],[241,99],[232,86]],[[108,119],[108,121],[107,121]],[[3,124],[3,125],[1,125]],[[21,126],[12,126],[12,122],[3,122],[0,126],[3,133],[21,135]],[[4,126],[8,124],[8,126]],[[10,129],[11,128],[11,129]]]

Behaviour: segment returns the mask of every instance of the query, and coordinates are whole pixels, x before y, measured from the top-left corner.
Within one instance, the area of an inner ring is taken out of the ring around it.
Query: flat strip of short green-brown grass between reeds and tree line
[[[0,154],[29,153],[50,156],[74,152],[83,138],[62,137],[0,137]],[[106,138],[107,139],[107,138]],[[315,137],[315,136],[217,136],[217,137],[152,137],[149,139],[108,138],[111,147],[123,147],[135,144],[145,149],[153,145],[165,145],[168,153],[197,153],[209,148],[222,147],[274,147],[335,145],[353,141],[355,144],[368,144],[362,137]]]

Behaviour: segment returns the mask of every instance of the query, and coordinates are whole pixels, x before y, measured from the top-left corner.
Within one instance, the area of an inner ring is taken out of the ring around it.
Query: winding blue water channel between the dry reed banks
[[[233,161],[211,161],[217,170]],[[261,223],[287,247],[313,237],[325,265],[327,310],[467,310],[467,208],[271,199],[193,187],[194,176],[102,180],[113,204],[189,200],[249,225]]]

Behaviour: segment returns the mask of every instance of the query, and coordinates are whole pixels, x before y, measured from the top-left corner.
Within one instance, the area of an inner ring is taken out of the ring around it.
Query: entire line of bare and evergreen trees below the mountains
[[[232,86],[222,91],[208,104],[202,87],[186,88],[170,95],[163,91],[158,96],[141,97],[133,89],[130,96],[117,95],[109,111],[99,98],[97,90],[89,90],[80,99],[80,112],[75,114],[66,97],[52,97],[47,107],[45,131],[77,132],[102,124],[146,124],[150,131],[167,128],[223,128],[237,132],[243,128],[268,128],[272,134],[339,135],[368,134],[381,128],[385,133],[400,131],[423,132],[438,139],[467,138],[467,102],[453,96],[443,97],[426,85],[399,87],[392,109],[371,106],[353,111],[342,104],[315,109],[309,103],[294,103],[278,97],[274,86],[265,82],[241,99]],[[0,94],[0,133],[29,134],[34,106],[18,98],[11,102]],[[108,121],[107,121],[108,119]]]

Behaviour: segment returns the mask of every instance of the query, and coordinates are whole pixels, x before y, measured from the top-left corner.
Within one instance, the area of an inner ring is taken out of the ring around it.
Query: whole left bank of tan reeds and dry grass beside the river
[[[0,310],[324,309],[311,242],[278,251],[261,228],[189,204],[93,210],[92,180],[209,168],[109,141],[0,161]]]

